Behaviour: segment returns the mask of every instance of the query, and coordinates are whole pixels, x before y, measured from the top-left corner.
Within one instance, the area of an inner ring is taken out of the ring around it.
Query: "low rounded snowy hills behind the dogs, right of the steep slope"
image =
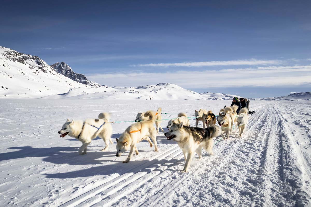
[[[44,98],[100,98],[118,100],[231,100],[233,95],[204,93],[181,88],[171,83],[159,83],[139,87],[94,87],[75,88],[67,93],[51,95]]]

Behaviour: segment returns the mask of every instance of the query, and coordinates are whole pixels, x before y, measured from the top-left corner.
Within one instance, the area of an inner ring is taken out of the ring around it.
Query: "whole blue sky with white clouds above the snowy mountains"
[[[310,1],[2,1],[0,45],[109,86],[311,90]]]

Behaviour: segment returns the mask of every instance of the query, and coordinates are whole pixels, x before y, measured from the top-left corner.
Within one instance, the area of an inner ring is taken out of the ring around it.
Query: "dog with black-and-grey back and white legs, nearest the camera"
[[[221,128],[219,126],[207,127],[206,129],[198,127],[183,126],[183,123],[174,124],[170,130],[164,135],[168,140],[174,139],[178,146],[183,151],[185,158],[185,165],[181,172],[188,172],[190,162],[194,157],[194,153],[199,155],[199,160],[202,158],[202,148],[213,155],[213,137],[221,135]]]

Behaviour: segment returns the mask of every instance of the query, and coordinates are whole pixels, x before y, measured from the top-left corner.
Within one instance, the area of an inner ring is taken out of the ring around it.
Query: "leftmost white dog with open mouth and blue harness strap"
[[[92,139],[97,136],[102,138],[106,144],[105,151],[109,147],[109,142],[112,144],[111,134],[112,126],[109,123],[110,113],[100,113],[98,119],[73,120],[67,119],[60,131],[60,137],[65,137],[67,134],[82,142],[79,149],[79,155],[86,154],[86,147],[91,143]]]

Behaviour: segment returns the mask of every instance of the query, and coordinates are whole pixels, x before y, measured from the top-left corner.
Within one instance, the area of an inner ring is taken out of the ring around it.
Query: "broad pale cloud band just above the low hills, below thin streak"
[[[162,82],[174,83],[184,88],[294,86],[311,84],[311,65],[162,73],[105,73],[88,74],[87,77],[110,86],[139,86]]]

